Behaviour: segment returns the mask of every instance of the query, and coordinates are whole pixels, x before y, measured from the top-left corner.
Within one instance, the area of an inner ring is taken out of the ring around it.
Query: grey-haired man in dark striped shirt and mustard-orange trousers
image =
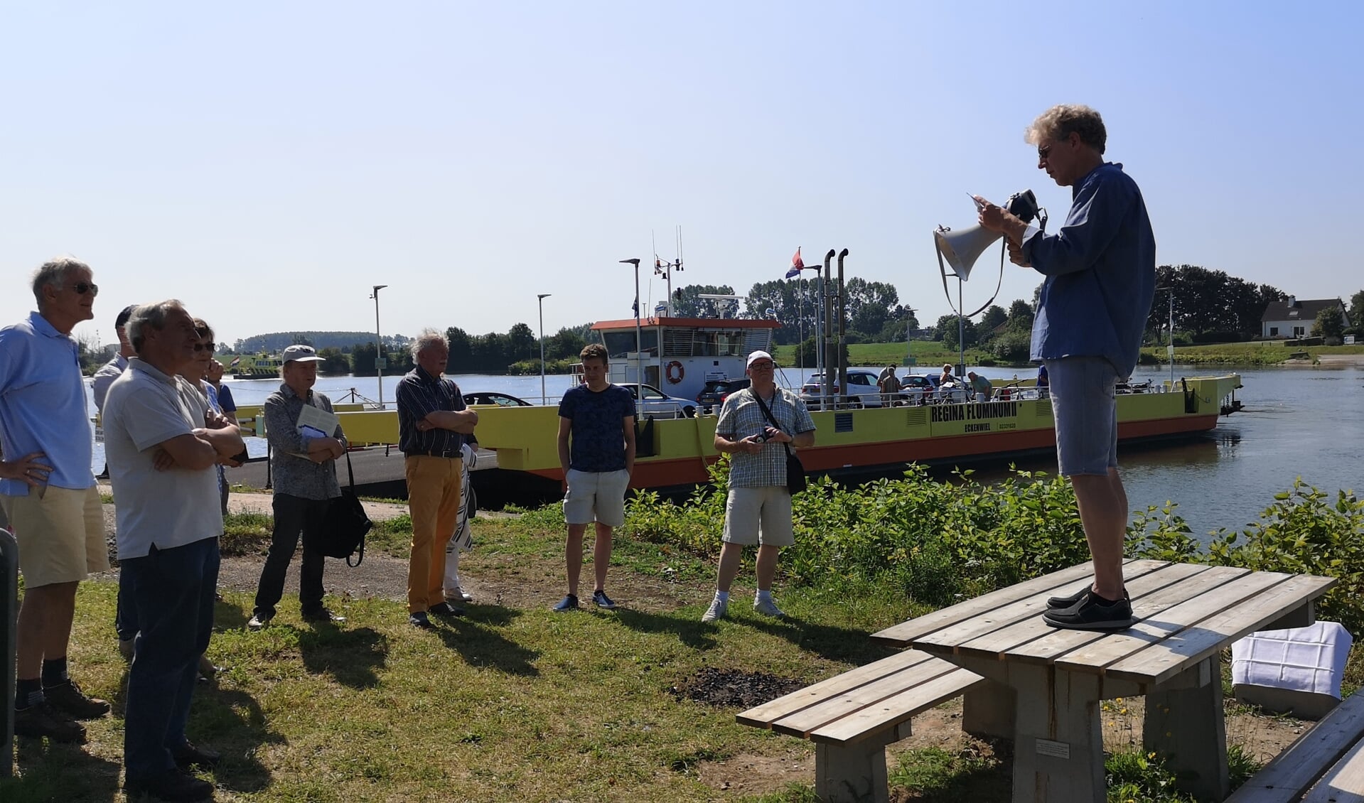
[[[398,449],[408,480],[412,556],[408,559],[408,623],[431,627],[430,613],[461,616],[445,599],[445,544],[460,517],[464,436],[479,414],[466,408],[460,386],[445,379],[450,345],[434,329],[412,341],[416,368],[398,382]]]

